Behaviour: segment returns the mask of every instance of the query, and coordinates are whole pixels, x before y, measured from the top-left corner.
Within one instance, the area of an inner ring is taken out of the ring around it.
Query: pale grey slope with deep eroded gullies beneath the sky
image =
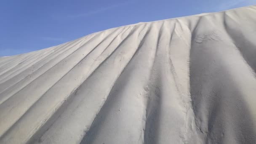
[[[0,58],[0,144],[256,144],[256,6]]]

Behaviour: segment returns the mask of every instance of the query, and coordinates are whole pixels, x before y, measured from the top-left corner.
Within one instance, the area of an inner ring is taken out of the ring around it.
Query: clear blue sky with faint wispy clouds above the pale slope
[[[223,11],[256,0],[1,0],[0,56],[138,22]]]

